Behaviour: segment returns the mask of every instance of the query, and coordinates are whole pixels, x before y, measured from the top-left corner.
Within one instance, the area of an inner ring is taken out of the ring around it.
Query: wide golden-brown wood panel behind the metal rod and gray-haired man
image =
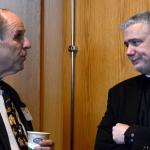
[[[69,43],[69,1],[66,0],[66,47]],[[108,89],[136,75],[123,46],[120,23],[150,9],[149,0],[76,0],[74,149],[93,150],[97,125],[106,110]],[[65,52],[65,150],[69,150],[70,58]]]

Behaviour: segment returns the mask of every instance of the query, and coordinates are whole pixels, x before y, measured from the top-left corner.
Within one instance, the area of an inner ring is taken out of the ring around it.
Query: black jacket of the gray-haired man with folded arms
[[[142,127],[138,122],[145,78],[145,75],[133,77],[109,90],[107,110],[98,126],[95,150],[150,149],[150,127]],[[112,127],[116,123],[130,125],[125,133],[128,138],[125,144],[116,144],[112,139]]]

